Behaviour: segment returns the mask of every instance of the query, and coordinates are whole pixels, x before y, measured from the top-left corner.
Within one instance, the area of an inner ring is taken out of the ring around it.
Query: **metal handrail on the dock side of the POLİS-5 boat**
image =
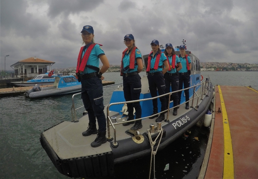
[[[190,89],[190,88],[193,88],[193,87],[194,87],[194,92],[195,92],[195,87],[196,87],[196,86],[199,86],[199,85],[203,85],[203,84],[204,84],[204,81],[201,82],[200,84],[191,86],[191,87],[189,87],[189,88],[185,88],[185,89],[182,89],[182,90],[178,90],[178,91],[173,91],[173,92],[170,92],[170,93],[162,94],[162,95],[159,95],[159,96],[153,97],[153,98],[145,98],[145,99],[139,99],[139,100],[134,100],[134,101],[124,101],[124,102],[110,103],[110,104],[107,106],[107,119],[108,119],[108,120],[107,120],[107,133],[108,133],[107,139],[109,139],[109,140],[112,139],[112,137],[110,136],[110,127],[109,127],[109,126],[110,126],[110,123],[111,123],[111,125],[112,125],[112,127],[113,127],[113,129],[114,129],[114,142],[113,142],[113,145],[116,146],[116,145],[117,145],[117,143],[116,143],[116,129],[115,129],[114,125],[123,124],[123,123],[128,122],[128,121],[124,121],[124,122],[119,122],[119,123],[113,124],[112,121],[111,121],[111,119],[110,119],[110,117],[109,117],[109,108],[110,108],[110,106],[116,105],[116,104],[125,104],[125,103],[139,102],[139,101],[147,101],[147,100],[152,100],[152,99],[160,98],[160,97],[166,96],[166,95],[169,95],[169,99],[168,99],[168,106],[169,106],[169,104],[170,104],[170,95],[171,95],[172,93],[177,93],[177,92],[179,92],[179,91],[184,91],[184,90],[187,90],[187,89]],[[206,80],[205,80],[205,85],[206,85]],[[196,92],[195,92],[195,94],[196,94]],[[197,95],[197,94],[196,94],[196,95]],[[197,95],[197,97],[195,97],[195,98],[198,98],[197,104],[196,104],[196,108],[195,108],[195,110],[197,110],[197,105],[198,105],[198,101],[199,101],[199,96]],[[194,98],[194,95],[193,95],[193,98],[192,98],[192,99],[189,99],[188,101],[185,101],[185,102],[182,103],[182,104],[185,104],[185,103],[187,103],[187,102],[189,102],[189,101],[193,101],[195,98]],[[180,106],[180,105],[182,105],[182,104],[179,104],[179,105],[177,105],[177,106],[175,106],[175,107],[173,107],[173,108],[176,108],[176,107],[178,107],[178,106]],[[168,108],[169,108],[169,107],[168,107]],[[166,112],[166,111],[168,111],[168,113],[169,113],[169,110],[170,110],[170,109],[173,109],[173,108],[166,109],[165,111],[161,111],[161,112],[159,112],[159,113],[157,113],[157,114],[161,114],[161,113],[164,113],[164,112]],[[167,113],[167,120],[168,120],[168,113]],[[144,118],[153,117],[153,116],[155,116],[155,115],[157,115],[157,114],[153,114],[153,115],[151,115],[151,116],[147,116],[147,117],[144,117]],[[133,121],[138,121],[138,120],[142,120],[142,119],[144,119],[144,118],[134,119],[134,120],[131,120],[131,121],[132,121],[132,122],[133,122]]]

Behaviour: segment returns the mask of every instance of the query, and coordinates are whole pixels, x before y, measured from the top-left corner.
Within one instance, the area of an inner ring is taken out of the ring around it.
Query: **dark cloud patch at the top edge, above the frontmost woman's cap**
[[[79,13],[81,11],[90,12],[97,8],[103,1],[86,1],[86,0],[49,0],[49,13],[51,18],[62,14],[68,16],[69,14]]]

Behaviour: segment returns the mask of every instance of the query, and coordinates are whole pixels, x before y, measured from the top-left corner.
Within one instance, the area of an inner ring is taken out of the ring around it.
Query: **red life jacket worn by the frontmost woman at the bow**
[[[93,47],[95,46],[95,43],[90,44],[90,46],[87,48],[83,58],[81,59],[82,53],[83,53],[83,47],[81,47],[79,55],[78,55],[78,59],[77,59],[77,67],[76,67],[76,73],[80,73],[84,71],[84,68],[86,67],[87,61],[90,57],[90,52],[93,49]],[[102,46],[101,44],[98,44],[100,46]]]

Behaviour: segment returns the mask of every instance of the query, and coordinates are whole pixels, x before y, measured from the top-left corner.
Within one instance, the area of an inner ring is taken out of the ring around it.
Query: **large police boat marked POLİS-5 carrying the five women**
[[[143,76],[139,100],[142,108],[143,127],[137,131],[128,130],[134,124],[122,125],[126,122],[127,115],[125,115],[123,88],[120,85],[113,92],[110,104],[105,106],[108,142],[100,147],[92,148],[90,143],[95,140],[96,134],[87,137],[82,135],[89,123],[88,115],[77,119],[73,103],[72,121],[56,124],[40,135],[41,145],[56,169],[68,177],[112,177],[115,164],[151,155],[157,148],[158,151],[165,148],[202,119],[212,100],[213,87],[209,78],[202,80],[199,59],[190,51],[186,51],[186,53],[192,61],[189,88],[190,108],[188,110],[184,108],[186,101],[184,93],[182,93],[180,105],[183,107],[178,109],[177,116],[172,115],[173,101],[169,101],[170,110],[167,109],[165,121],[156,123],[156,118],[149,119],[153,112],[153,98],[148,90],[148,79]],[[148,57],[148,55],[144,55],[144,57]],[[77,94],[74,94],[73,97],[75,95]],[[161,103],[159,100],[158,110],[160,113]],[[152,142],[154,140],[156,142]]]

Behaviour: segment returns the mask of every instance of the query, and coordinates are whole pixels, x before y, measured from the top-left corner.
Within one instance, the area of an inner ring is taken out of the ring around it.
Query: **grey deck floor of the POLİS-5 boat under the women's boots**
[[[145,91],[147,92],[148,88],[146,88]],[[196,92],[198,95],[200,95],[201,89],[199,88]],[[202,95],[204,98],[205,95],[204,94]],[[197,98],[194,99],[194,106],[196,105],[196,102],[197,102]],[[198,104],[200,104],[201,102],[202,100],[199,100]],[[191,102],[189,104],[191,106]],[[186,110],[185,105],[182,105],[178,109],[177,116],[173,116],[173,110],[170,110],[169,111],[170,123],[166,123],[165,121],[162,121],[162,124],[163,124],[162,127],[165,125],[172,125],[171,123],[172,121],[176,120],[179,116],[187,114],[191,110],[193,109],[189,108],[188,110]],[[104,111],[106,115],[106,107]],[[110,111],[109,115],[110,117],[116,116],[118,123],[122,122],[123,119],[127,118],[126,115],[122,117],[118,112],[114,112],[114,111]],[[167,114],[165,114],[165,118],[166,117],[167,117]],[[141,134],[145,133],[147,129],[150,128],[149,127],[150,124],[156,124],[155,120],[156,118],[154,119],[146,118],[142,120],[143,128],[139,129]],[[43,134],[47,139],[47,141],[49,142],[49,144],[54,149],[54,151],[56,152],[56,154],[58,155],[58,157],[61,159],[88,156],[88,155],[100,154],[107,151],[112,151],[109,142],[102,144],[101,147],[97,147],[97,148],[92,148],[90,146],[90,143],[95,140],[97,135],[93,134],[87,137],[82,136],[82,132],[87,130],[88,123],[89,123],[88,115],[85,115],[79,119],[79,122],[64,121],[63,123],[46,130],[45,132],[43,132]],[[133,125],[134,124],[130,124],[128,126],[123,126],[122,124],[115,125],[117,141],[126,139],[126,138],[131,138],[131,136],[126,134],[125,131],[130,129]],[[114,129],[111,126],[110,126],[110,135],[114,137]]]

